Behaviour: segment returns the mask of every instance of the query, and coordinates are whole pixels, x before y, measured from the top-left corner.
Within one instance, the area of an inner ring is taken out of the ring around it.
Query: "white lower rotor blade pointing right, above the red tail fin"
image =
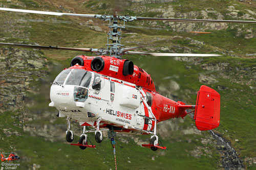
[[[152,56],[167,56],[167,57],[217,57],[218,54],[184,54],[184,53],[147,53],[147,52],[125,52],[124,54],[133,55],[152,55]]]

